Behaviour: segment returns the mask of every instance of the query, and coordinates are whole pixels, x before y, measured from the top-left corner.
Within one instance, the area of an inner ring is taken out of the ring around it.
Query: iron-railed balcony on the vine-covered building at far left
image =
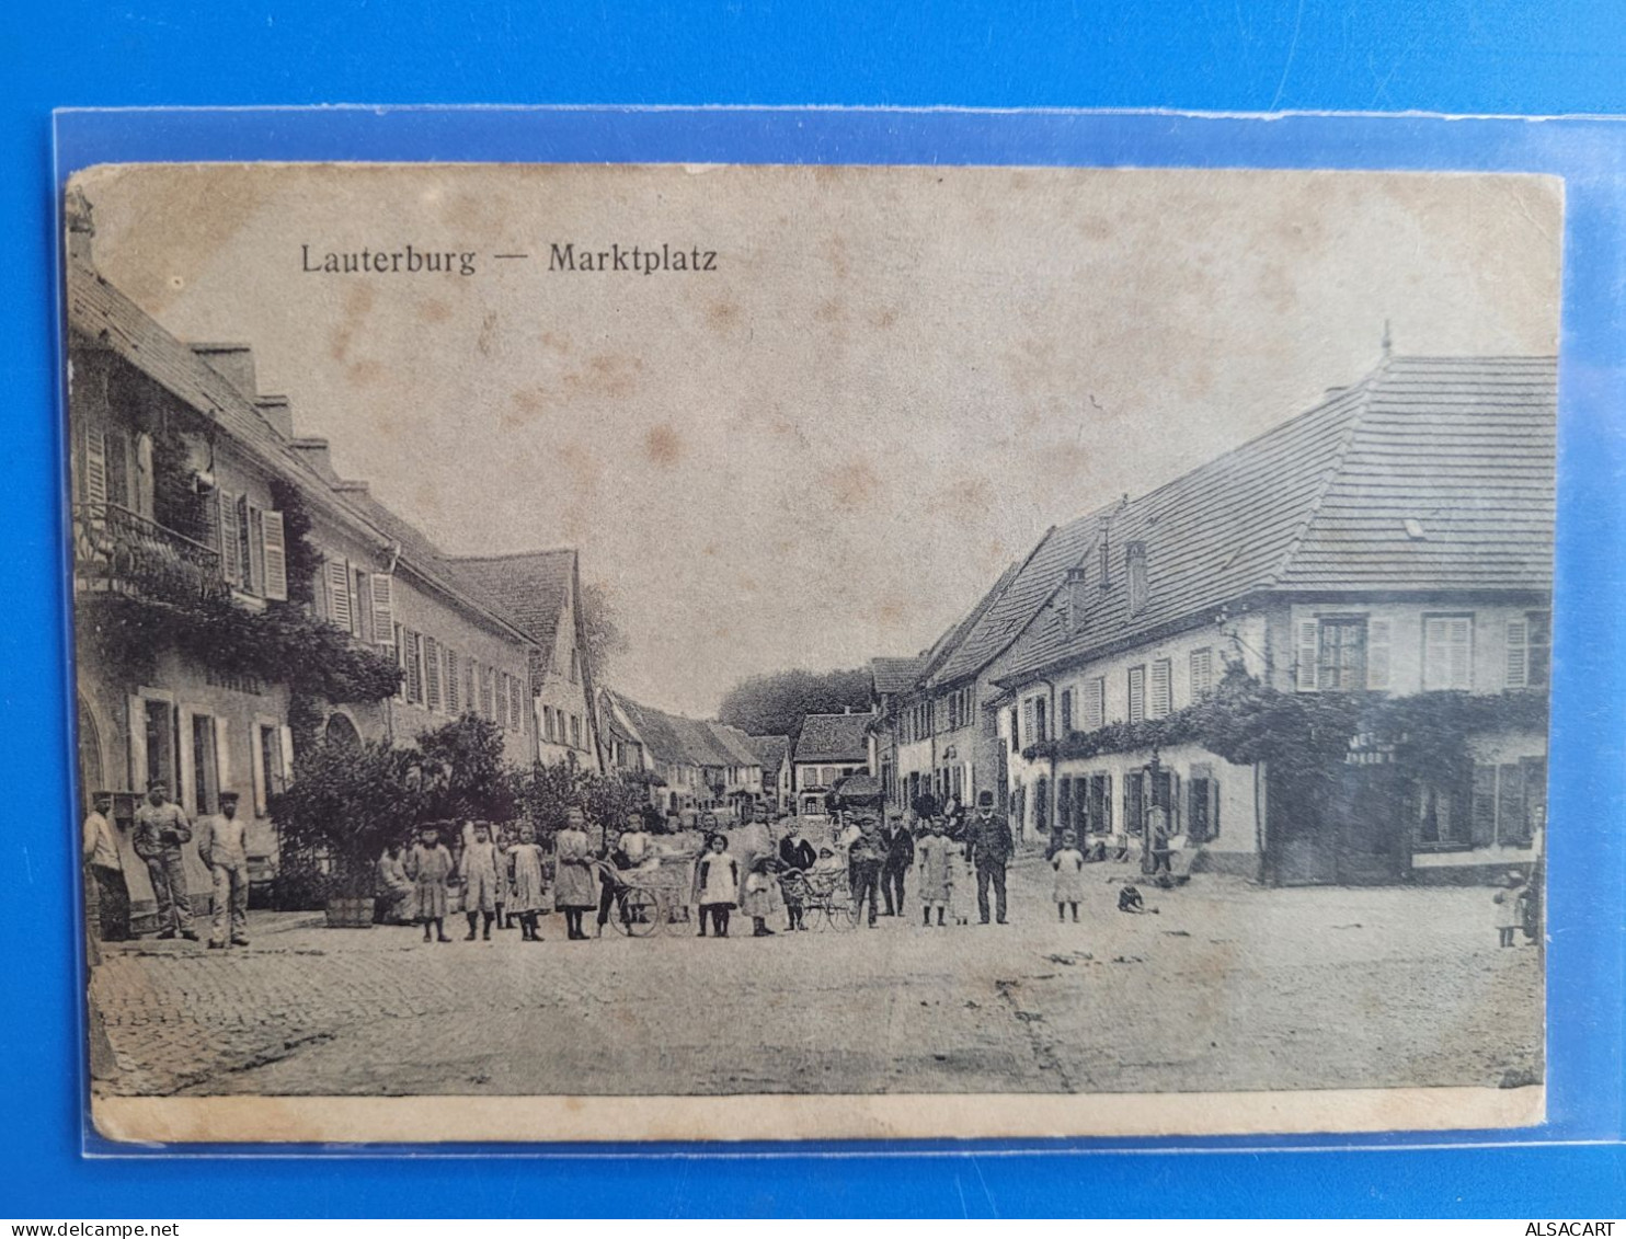
[[[73,506],[73,587],[177,605],[231,597],[220,551],[107,502]]]

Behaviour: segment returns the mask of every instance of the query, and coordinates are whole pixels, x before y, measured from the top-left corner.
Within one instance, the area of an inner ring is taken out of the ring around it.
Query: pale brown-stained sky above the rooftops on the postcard
[[[101,169],[102,273],[254,345],[447,551],[577,546],[613,686],[914,654],[1052,524],[1380,354],[1554,353],[1561,192],[1489,176],[553,166]],[[715,250],[559,273],[550,242]],[[324,275],[328,250],[476,273]],[[528,254],[528,259],[494,259]]]

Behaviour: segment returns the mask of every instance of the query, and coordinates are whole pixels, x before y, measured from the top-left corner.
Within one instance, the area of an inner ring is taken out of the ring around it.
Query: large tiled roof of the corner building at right
[[[1052,602],[1011,680],[1257,590],[1548,590],[1551,358],[1393,358],[1354,387],[1112,511],[1109,589]],[[1410,524],[1408,524],[1410,522]],[[1124,548],[1146,546],[1128,613]],[[1099,543],[1096,543],[1099,550]],[[1086,587],[1099,587],[1096,554]]]

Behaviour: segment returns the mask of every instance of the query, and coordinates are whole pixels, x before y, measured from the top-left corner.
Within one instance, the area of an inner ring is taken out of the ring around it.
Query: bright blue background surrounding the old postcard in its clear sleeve
[[[158,1159],[80,1156],[78,995],[59,927],[73,859],[63,756],[50,120],[57,106],[291,102],[889,104],[963,107],[1619,112],[1626,21],[1613,5],[982,3],[624,8],[501,3],[29,5],[0,46],[8,231],[0,299],[13,468],[0,491],[0,753],[13,766],[0,857],[7,1019],[0,1215],[467,1213],[1489,1213],[1619,1211],[1613,1146],[1358,1151],[1000,1153],[836,1158]],[[1556,633],[1551,956],[1553,1106],[1572,1138],[1621,1128],[1619,442],[1626,288],[1621,127],[1364,122],[1242,127],[1176,119],[720,114],[605,127],[590,117],[312,125],[283,115],[99,120],[73,158],[384,154],[455,158],[806,158],[1302,163],[1548,167],[1569,174],[1564,509]],[[83,122],[80,122],[83,124]],[[686,132],[685,132],[686,130]],[[613,137],[606,137],[606,133]],[[249,137],[252,135],[252,141]],[[335,135],[346,145],[322,146]],[[1327,143],[1333,143],[1327,146]],[[1582,600],[1582,590],[1592,597]],[[1567,855],[1561,849],[1569,849]],[[1569,863],[1579,862],[1579,863]],[[1559,876],[1559,870],[1564,873]]]

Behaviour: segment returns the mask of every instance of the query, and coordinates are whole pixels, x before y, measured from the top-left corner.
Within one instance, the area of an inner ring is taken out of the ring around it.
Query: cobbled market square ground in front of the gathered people
[[[1011,925],[727,941],[519,932],[424,945],[255,914],[229,954],[109,946],[122,1094],[1226,1091],[1540,1078],[1540,953],[1485,888],[1259,889],[1200,876],[1059,925],[1036,859]],[[745,933],[740,924],[745,924]],[[776,928],[782,928],[776,925]]]

